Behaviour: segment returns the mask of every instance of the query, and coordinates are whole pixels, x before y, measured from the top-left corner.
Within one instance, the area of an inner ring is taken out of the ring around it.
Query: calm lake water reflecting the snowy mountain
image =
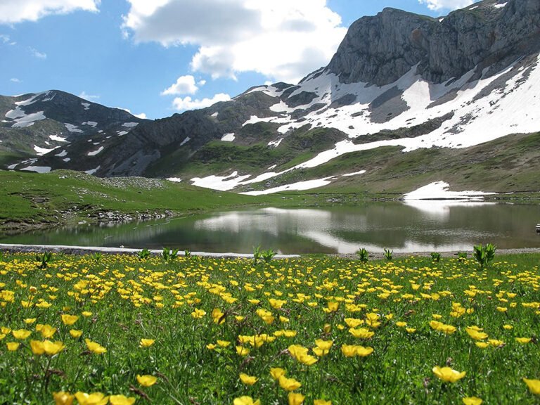
[[[217,212],[139,224],[80,225],[0,236],[0,243],[188,249],[250,253],[254,246],[291,253],[540,248],[534,226],[539,205],[416,201],[358,207],[262,209]]]

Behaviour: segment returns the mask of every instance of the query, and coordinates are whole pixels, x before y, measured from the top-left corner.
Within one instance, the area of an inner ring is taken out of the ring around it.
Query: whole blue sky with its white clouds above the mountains
[[[385,7],[473,0],[2,0],[0,94],[49,89],[156,119],[326,65]],[[206,100],[205,100],[206,99]]]

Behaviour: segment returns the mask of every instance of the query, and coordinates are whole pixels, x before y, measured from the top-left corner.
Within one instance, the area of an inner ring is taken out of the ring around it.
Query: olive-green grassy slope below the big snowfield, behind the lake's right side
[[[336,176],[322,193],[391,193],[401,195],[443,180],[452,190],[540,191],[540,133],[517,134],[463,149],[430,148],[403,153],[385,146],[348,153],[311,169],[297,169],[265,182],[271,187]],[[357,176],[340,176],[366,170]],[[253,188],[262,185],[252,185]]]

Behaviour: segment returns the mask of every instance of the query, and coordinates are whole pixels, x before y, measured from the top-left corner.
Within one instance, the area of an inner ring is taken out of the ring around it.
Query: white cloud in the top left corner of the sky
[[[0,24],[37,21],[50,14],[67,14],[76,10],[98,12],[101,0],[2,0]]]

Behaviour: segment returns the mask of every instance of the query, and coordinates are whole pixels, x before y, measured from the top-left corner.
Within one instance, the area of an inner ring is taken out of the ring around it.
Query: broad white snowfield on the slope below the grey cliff
[[[420,75],[416,75],[416,66],[397,82],[380,87],[368,86],[366,83],[342,84],[339,77],[329,73],[312,75],[289,96],[291,98],[302,92],[314,93],[316,97],[311,102],[291,108],[284,101],[279,101],[271,107],[276,113],[275,117],[259,118],[254,115],[244,125],[262,121],[283,124],[278,131],[287,136],[291,130],[311,124],[313,128],[339,129],[348,134],[349,139],[340,141],[333,149],[319,153],[311,160],[283,172],[266,172],[259,174],[255,179],[250,179],[249,174],[238,176],[238,173],[234,172],[229,176],[208,176],[191,181],[196,186],[231,190],[238,186],[271,179],[290,170],[323,165],[346,153],[380,146],[401,146],[404,151],[432,147],[466,148],[508,134],[539,131],[540,56],[531,65],[522,66],[515,72],[514,67],[518,63],[519,61],[516,61],[506,70],[491,77],[484,77],[488,70],[486,69],[484,75],[473,82],[470,82],[474,75],[474,70],[471,70],[461,78],[451,79],[442,84],[426,82]],[[506,75],[511,78],[501,85],[499,82]],[[395,89],[402,92],[400,98],[406,103],[406,108],[398,111],[397,116],[386,122],[373,120],[371,108],[373,101]],[[276,96],[282,92],[274,86],[261,86],[250,92],[254,91],[262,91],[269,96]],[[443,98],[444,103],[442,101],[435,103],[444,96],[449,99]],[[333,102],[345,97],[354,98],[354,101],[348,105],[332,107]],[[307,113],[300,120],[293,120],[290,115],[295,110],[307,110],[316,104],[324,104],[326,107]],[[352,142],[352,139],[360,139],[366,134],[413,127],[449,113],[454,113],[454,116],[429,134],[369,143]]]

